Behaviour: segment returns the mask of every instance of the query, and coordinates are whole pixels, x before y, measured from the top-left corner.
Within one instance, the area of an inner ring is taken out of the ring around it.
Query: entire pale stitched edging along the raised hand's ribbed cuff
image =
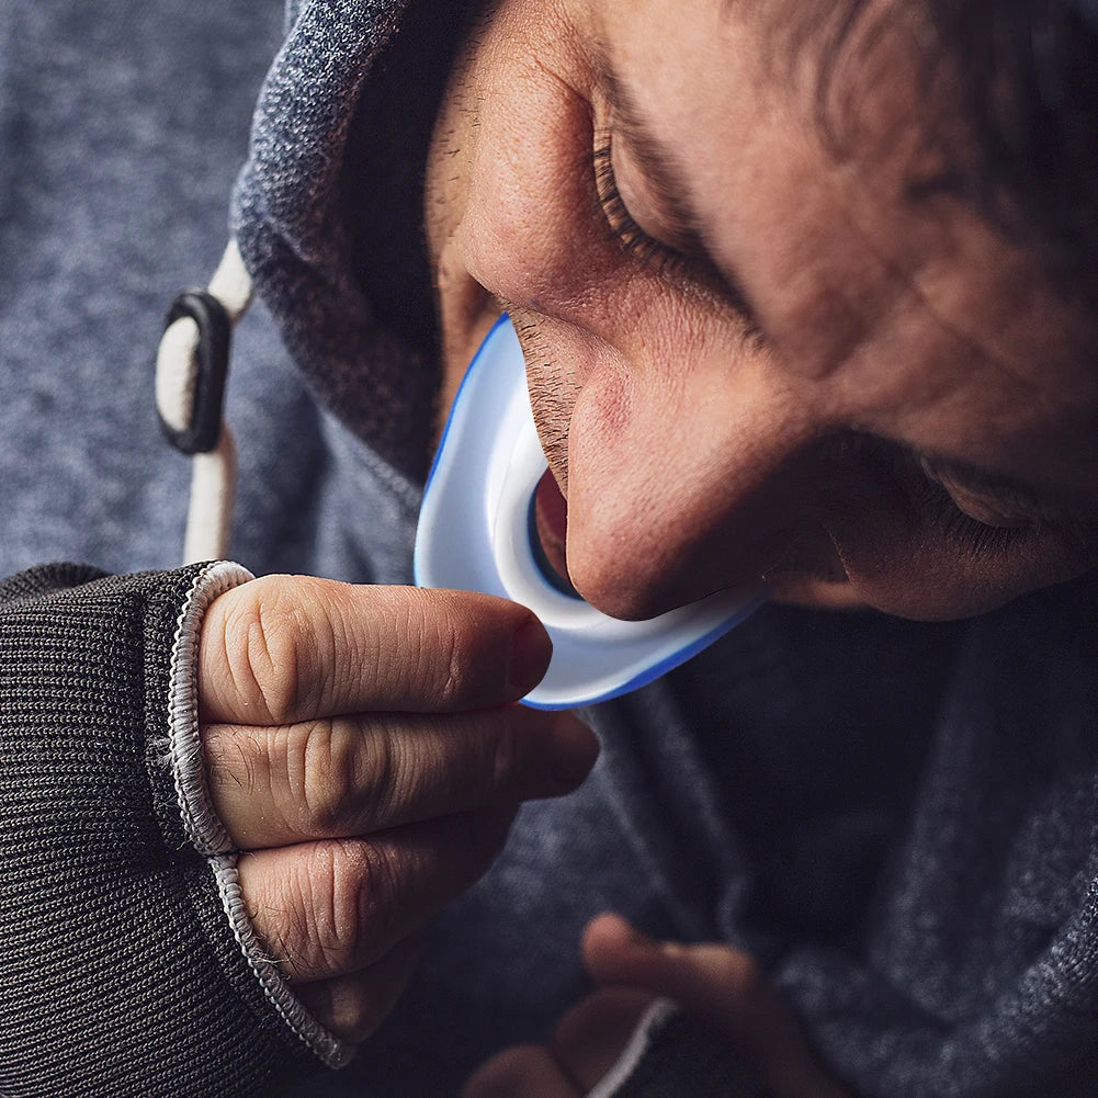
[[[210,564],[195,576],[180,610],[171,649],[171,685],[168,691],[168,743],[176,797],[187,837],[210,863],[233,937],[267,1000],[293,1033],[328,1067],[344,1067],[355,1055],[354,1046],[330,1033],[302,1006],[278,965],[259,944],[240,894],[238,855],[217,819],[206,784],[198,692],[202,618],[219,595],[254,579],[246,568],[232,561]]]

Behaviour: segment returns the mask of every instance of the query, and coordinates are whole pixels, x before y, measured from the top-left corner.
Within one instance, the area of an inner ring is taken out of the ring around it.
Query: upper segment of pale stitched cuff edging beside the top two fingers
[[[233,842],[213,810],[206,786],[199,735],[199,631],[206,609],[219,595],[254,579],[246,568],[232,561],[219,561],[199,572],[179,613],[171,648],[168,691],[171,772],[187,838],[206,858],[227,853]]]

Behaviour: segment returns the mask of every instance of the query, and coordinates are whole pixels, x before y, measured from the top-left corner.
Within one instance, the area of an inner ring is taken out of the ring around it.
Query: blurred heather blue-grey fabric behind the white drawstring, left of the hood
[[[178,563],[190,474],[157,427],[152,363],[171,298],[208,279],[225,246],[281,30],[269,0],[4,5],[3,574],[45,560],[114,572]],[[334,463],[358,458],[329,456],[261,305],[237,351],[237,559],[256,572],[368,576],[357,537],[320,518],[340,513]],[[355,512],[348,522],[362,520]]]

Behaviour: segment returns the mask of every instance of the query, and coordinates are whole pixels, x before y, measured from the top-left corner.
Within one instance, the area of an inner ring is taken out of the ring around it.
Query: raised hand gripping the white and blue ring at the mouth
[[[512,704],[549,654],[529,610],[463,592],[272,576],[206,612],[211,797],[248,852],[256,932],[344,1039],[389,1011],[417,931],[483,874],[518,804],[591,769],[574,717]]]

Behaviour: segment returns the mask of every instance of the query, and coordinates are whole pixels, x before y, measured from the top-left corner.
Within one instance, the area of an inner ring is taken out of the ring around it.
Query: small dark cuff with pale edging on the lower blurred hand
[[[728,1042],[657,1002],[589,1098],[766,1098]]]

